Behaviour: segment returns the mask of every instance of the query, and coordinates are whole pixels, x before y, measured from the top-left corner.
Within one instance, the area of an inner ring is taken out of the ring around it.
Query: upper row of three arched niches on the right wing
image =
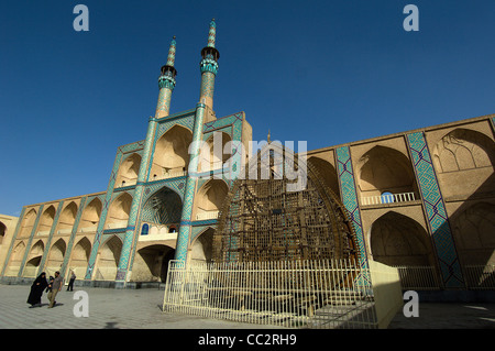
[[[311,162],[322,175],[326,184],[339,196],[340,187],[336,167],[318,156],[310,156]],[[449,174],[470,169],[488,168],[495,165],[495,142],[485,134],[468,130],[454,129],[447,133],[432,150],[432,162],[437,173],[443,175],[444,186],[459,189],[455,175],[452,180]],[[366,151],[356,162],[356,183],[361,196],[377,196],[384,193],[413,193],[418,198],[418,185],[410,160],[403,152],[383,145],[375,145]],[[483,185],[485,179],[472,179],[472,191]],[[452,183],[454,182],[454,183]],[[458,180],[463,182],[463,180]],[[472,183],[471,182],[471,183]],[[484,185],[486,187],[486,185]],[[450,194],[451,191],[446,191]]]

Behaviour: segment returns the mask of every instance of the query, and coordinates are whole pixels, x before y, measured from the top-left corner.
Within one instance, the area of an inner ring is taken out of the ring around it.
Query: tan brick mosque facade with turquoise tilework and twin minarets
[[[170,260],[211,260],[252,128],[244,112],[215,113],[216,22],[201,50],[199,102],[170,114],[175,51],[174,37],[146,138],[118,147],[107,189],[26,205],[2,231],[2,281],[75,271],[85,284],[158,283]],[[427,268],[438,288],[465,289],[471,267],[495,264],[494,135],[491,114],[306,157],[345,209],[364,262]]]

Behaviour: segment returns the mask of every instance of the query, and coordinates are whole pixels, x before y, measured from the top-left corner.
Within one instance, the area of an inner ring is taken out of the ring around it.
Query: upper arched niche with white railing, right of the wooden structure
[[[417,193],[413,165],[402,152],[376,145],[358,162],[358,184],[362,197],[383,193]]]

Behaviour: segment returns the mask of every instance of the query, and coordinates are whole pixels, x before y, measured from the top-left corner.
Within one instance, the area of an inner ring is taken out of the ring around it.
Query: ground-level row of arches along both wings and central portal
[[[454,240],[463,264],[486,264],[494,261],[495,250],[495,205],[477,202],[463,211],[452,223]],[[209,261],[212,252],[213,228],[206,229],[198,235],[191,246],[191,260]],[[367,232],[366,242],[371,259],[388,265],[436,266],[436,253],[427,230],[414,219],[388,211],[373,222]],[[122,241],[118,235],[108,238],[101,245],[96,263],[96,279],[112,281],[122,250]],[[45,251],[43,240],[37,240],[31,248],[23,276],[34,276]],[[61,268],[67,251],[67,243],[58,239],[47,252],[46,271]],[[87,237],[78,238],[70,253],[68,267],[79,275],[86,272],[91,242]],[[174,248],[151,244],[138,250],[136,266],[141,271],[136,275],[142,279],[163,281],[168,261],[174,256]],[[19,242],[12,251],[11,265],[21,268],[25,254],[24,241]]]

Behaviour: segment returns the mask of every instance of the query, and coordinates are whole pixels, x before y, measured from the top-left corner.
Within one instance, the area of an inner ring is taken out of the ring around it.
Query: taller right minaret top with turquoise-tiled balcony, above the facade
[[[217,24],[215,19],[210,22],[210,31],[208,33],[208,45],[201,50],[201,62],[199,68],[201,70],[201,90],[199,102],[205,103],[210,110],[213,110],[213,90],[215,77],[218,72],[218,59],[220,53],[215,48],[215,40],[217,33]]]

